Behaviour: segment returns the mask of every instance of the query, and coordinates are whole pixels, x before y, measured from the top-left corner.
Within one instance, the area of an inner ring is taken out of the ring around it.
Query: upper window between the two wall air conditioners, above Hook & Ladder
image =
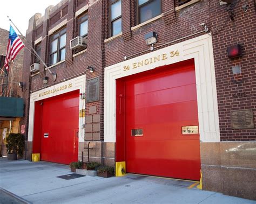
[[[65,60],[66,54],[66,29],[62,29],[51,36],[50,47],[51,65]]]

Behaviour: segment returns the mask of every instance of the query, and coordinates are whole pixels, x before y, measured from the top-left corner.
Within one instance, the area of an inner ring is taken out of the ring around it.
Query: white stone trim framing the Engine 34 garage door
[[[127,71],[123,70],[124,66],[132,65],[133,62],[142,61],[175,50],[179,50],[179,56],[136,69],[130,67]],[[187,59],[194,59],[196,69],[200,141],[220,142],[212,37],[208,34],[105,68],[104,142],[116,142],[116,79]]]

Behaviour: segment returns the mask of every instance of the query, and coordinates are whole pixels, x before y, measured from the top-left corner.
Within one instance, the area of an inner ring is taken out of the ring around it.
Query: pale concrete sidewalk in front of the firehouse
[[[57,178],[66,174],[71,174],[67,165],[0,158],[0,187],[32,203],[256,203],[201,191],[196,186],[191,187],[192,181],[134,174],[111,178]]]

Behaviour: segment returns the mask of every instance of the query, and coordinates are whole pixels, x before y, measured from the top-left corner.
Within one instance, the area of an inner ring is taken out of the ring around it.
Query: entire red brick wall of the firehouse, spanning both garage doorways
[[[256,123],[256,78],[255,78],[255,33],[256,33],[256,13],[253,2],[248,2],[248,11],[242,10],[242,2],[234,5],[234,21],[228,19],[226,5],[219,5],[218,0],[200,1],[188,6],[180,11],[175,11],[177,1],[162,0],[162,10],[164,16],[150,24],[139,27],[131,31],[131,26],[136,25],[136,1],[122,1],[122,20],[123,36],[104,43],[104,39],[109,35],[109,1],[102,0],[84,0],[68,2],[68,14],[61,19],[56,19],[50,26],[48,20],[45,20],[42,31],[42,58],[48,61],[49,40],[45,37],[48,30],[67,18],[67,38],[66,38],[66,60],[64,63],[53,67],[51,70],[57,73],[57,80],[53,82],[48,72],[44,72],[43,66],[41,73],[33,76],[31,80],[32,92],[43,88],[42,77],[49,76],[48,86],[53,83],[63,81],[81,75],[86,72],[86,80],[100,76],[100,101],[86,104],[86,115],[89,114],[89,108],[96,106],[97,114],[100,114],[100,139],[103,140],[103,112],[104,112],[104,67],[117,64],[124,60],[124,56],[134,55],[149,51],[144,36],[150,31],[158,34],[159,48],[161,44],[184,38],[188,35],[203,31],[200,23],[206,23],[212,32],[214,64],[217,82],[218,108],[220,117],[220,135],[221,140],[255,140],[256,130],[232,130],[231,129],[231,110],[253,109],[254,123]],[[74,18],[75,11],[88,4],[89,32],[87,51],[83,54],[72,57],[73,51],[69,49],[69,42],[77,36],[77,19]],[[50,14],[53,17],[60,10],[66,8],[62,5],[59,9]],[[49,28],[50,26],[50,28]],[[224,27],[223,27],[224,26]],[[223,28],[223,29],[222,29]],[[32,33],[27,33],[29,39],[35,40]],[[205,33],[200,33],[205,34]],[[194,35],[184,40],[194,38],[200,34]],[[179,43],[176,41],[175,43]],[[230,60],[227,58],[227,46],[234,44],[242,45],[243,55],[239,59]],[[172,43],[173,44],[173,43]],[[172,45],[171,43],[165,46]],[[157,50],[156,49],[156,50]],[[26,53],[26,59],[31,58],[30,53]],[[29,79],[29,66],[32,62],[24,62],[24,71],[26,79]],[[96,72],[87,72],[87,66],[95,66]],[[232,74],[232,66],[240,65],[242,74],[239,79]],[[234,80],[242,81],[241,83]],[[237,93],[246,93],[246,97],[233,97]],[[256,124],[255,124],[256,127]],[[92,138],[93,139],[93,138]]]

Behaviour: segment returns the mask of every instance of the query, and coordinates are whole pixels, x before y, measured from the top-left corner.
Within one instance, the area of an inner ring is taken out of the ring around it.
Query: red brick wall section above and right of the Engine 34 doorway
[[[130,7],[132,10],[131,4],[129,1],[123,1],[123,36],[105,44],[106,66],[124,61],[124,56],[149,50],[144,40],[147,32],[157,32],[157,43],[160,45],[202,31],[203,27],[199,24],[206,23],[213,32],[220,138],[221,140],[255,140],[256,129],[232,130],[230,116],[231,110],[253,109],[256,128],[256,14],[253,2],[248,2],[247,12],[242,10],[244,3],[235,4],[234,22],[232,22],[228,18],[227,6],[220,6],[217,0],[201,1],[177,12],[174,10],[174,1],[162,0],[164,17],[131,31],[132,37],[128,38],[127,33],[130,31],[131,22],[134,22],[133,18],[136,18],[132,12],[127,12]],[[218,32],[223,26],[223,30]],[[184,40],[187,39],[189,38]],[[239,59],[230,60],[227,57],[227,46],[237,43],[242,45],[243,55]],[[242,75],[239,79],[232,74],[231,67],[234,65],[240,65],[242,68]],[[238,82],[235,83],[234,79]],[[239,83],[241,80],[244,81]],[[246,97],[233,97],[238,93],[246,93]]]

